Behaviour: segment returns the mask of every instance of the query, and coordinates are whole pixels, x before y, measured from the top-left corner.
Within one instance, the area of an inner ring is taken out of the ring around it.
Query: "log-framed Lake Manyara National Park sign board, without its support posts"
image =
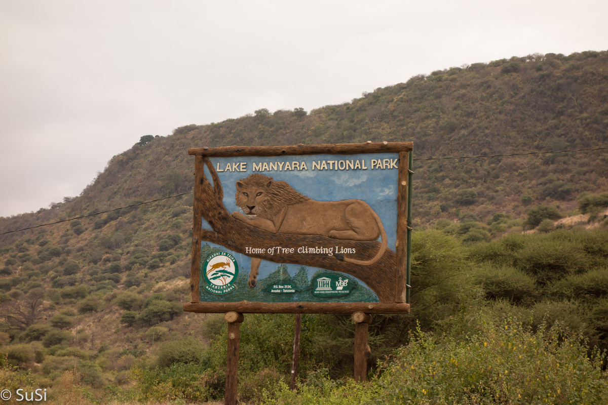
[[[404,313],[412,143],[196,148],[194,312]]]

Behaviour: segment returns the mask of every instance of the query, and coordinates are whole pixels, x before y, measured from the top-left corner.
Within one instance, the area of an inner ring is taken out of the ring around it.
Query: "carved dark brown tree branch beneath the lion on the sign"
[[[206,165],[211,174],[213,185],[204,175],[203,166]],[[370,260],[381,247],[381,242],[356,242],[353,240],[336,240],[323,236],[302,236],[292,234],[274,234],[254,228],[254,226],[233,218],[222,202],[224,191],[213,165],[208,157],[196,157],[195,194],[199,201],[201,211],[198,213],[207,220],[213,228],[200,230],[199,240],[223,245],[230,250],[258,257],[276,263],[301,264],[308,267],[325,268],[351,274],[365,282],[377,295],[380,302],[395,302],[396,256],[390,249],[385,250],[382,257],[373,265],[358,265],[339,260],[335,254],[302,254],[297,253],[298,247],[319,248],[350,248],[357,253],[347,254],[348,257],[358,260]],[[254,248],[293,248],[294,253],[286,253],[276,249],[274,254],[246,253],[247,247]]]

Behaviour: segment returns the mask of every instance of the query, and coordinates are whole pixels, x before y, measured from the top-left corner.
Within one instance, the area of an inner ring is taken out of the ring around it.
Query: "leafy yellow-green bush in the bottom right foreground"
[[[305,383],[297,393],[283,386],[263,404],[607,403],[604,356],[589,356],[578,336],[560,327],[533,333],[510,320],[468,322],[479,332],[466,339],[419,329],[368,384]]]

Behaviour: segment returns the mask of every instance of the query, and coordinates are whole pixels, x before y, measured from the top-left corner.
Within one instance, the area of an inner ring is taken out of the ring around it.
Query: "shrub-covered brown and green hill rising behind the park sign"
[[[191,147],[367,140],[413,141],[414,157],[420,159],[414,162],[413,273],[416,281],[418,272],[421,287],[412,298],[423,329],[458,313],[459,288],[469,293],[481,288],[483,299],[496,303],[496,313],[508,313],[514,305],[536,325],[542,315],[534,315],[535,305],[558,314],[554,319],[575,313],[568,318],[572,325],[586,325],[592,344],[608,345],[608,152],[423,160],[608,146],[606,52],[535,54],[452,67],[311,112],[259,109],[221,123],[182,126],[167,137],[145,136],[112,157],[80,196],[0,218],[0,233],[192,191]],[[221,333],[222,324],[181,310],[188,299],[192,205],[188,194],[0,236],[0,352],[9,359],[2,367],[30,369],[33,384],[46,387],[77,364],[83,381],[95,389],[128,384],[130,376],[131,383],[145,387],[139,391],[144,400],[154,392],[173,395],[145,384],[170,378],[162,370],[174,362],[199,367],[201,360],[188,353],[205,347],[188,338],[173,347],[163,342],[202,333],[204,344],[216,344],[208,331]],[[568,230],[572,226],[598,229]],[[534,228],[542,232],[521,234]],[[537,251],[547,257],[534,256]],[[464,268],[472,278],[441,276],[446,269]],[[452,284],[446,287],[445,280]],[[565,295],[584,299],[565,302]],[[313,318],[305,323],[321,352],[310,349],[302,367],[333,365],[331,376],[348,373],[351,355],[332,346],[341,342],[336,330],[342,321],[333,331],[319,332]],[[266,318],[259,319],[251,327],[268,333]],[[388,353],[381,347],[407,341],[404,330],[412,318],[378,319],[381,324],[370,332],[379,336],[372,339],[376,355]],[[291,350],[287,341],[276,347],[283,346]],[[342,355],[347,360],[337,359]],[[212,367],[212,360],[205,367]],[[257,366],[249,366],[257,372]],[[221,390],[220,383],[216,387]]]

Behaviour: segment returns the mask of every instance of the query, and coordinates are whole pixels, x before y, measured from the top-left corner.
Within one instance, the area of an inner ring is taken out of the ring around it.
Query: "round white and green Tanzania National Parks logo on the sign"
[[[232,254],[216,252],[210,254],[202,265],[205,290],[212,294],[227,294],[237,288],[238,262]]]

